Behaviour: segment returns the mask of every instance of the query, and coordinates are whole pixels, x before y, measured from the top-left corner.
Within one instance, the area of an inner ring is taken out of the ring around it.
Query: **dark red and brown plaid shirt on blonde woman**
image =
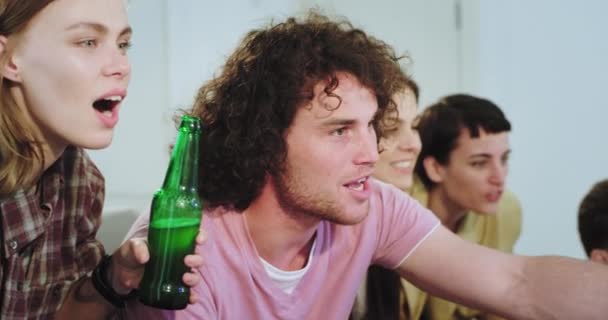
[[[0,199],[0,319],[52,318],[70,286],[101,260],[95,239],[104,179],[68,147],[37,188]]]

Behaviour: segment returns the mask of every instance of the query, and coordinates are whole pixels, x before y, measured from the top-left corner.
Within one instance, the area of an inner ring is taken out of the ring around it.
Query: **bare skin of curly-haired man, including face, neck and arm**
[[[297,111],[286,134],[289,192],[308,192],[292,196],[319,198],[321,204],[307,207],[296,199],[291,206],[282,205],[281,190],[268,177],[260,197],[245,211],[260,256],[284,270],[305,265],[322,219],[355,224],[367,215],[370,186],[365,179],[378,160],[369,124],[377,105],[373,93],[355,78],[338,78],[335,93],[342,97],[341,106],[328,114],[323,105],[331,102],[315,89],[312,104]],[[397,271],[434,295],[509,319],[604,319],[608,313],[608,281],[599,281],[608,279],[608,268],[564,257],[501,253],[466,242],[442,226]],[[560,294],[564,288],[567,295]]]

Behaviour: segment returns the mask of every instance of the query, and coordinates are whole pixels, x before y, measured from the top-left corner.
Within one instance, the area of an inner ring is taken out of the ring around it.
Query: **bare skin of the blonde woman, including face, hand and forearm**
[[[0,36],[0,53],[6,56],[2,76],[14,84],[11,95],[44,142],[45,162],[34,168],[38,176],[69,145],[99,149],[112,141],[130,79],[126,50],[131,33],[123,0],[56,0],[23,32]],[[12,41],[17,45],[9,50]],[[112,101],[110,110],[95,107],[104,99]],[[197,242],[204,238],[199,234]],[[131,239],[114,253],[106,276],[118,294],[138,286],[148,259],[144,239]],[[202,265],[202,257],[189,255],[184,262],[192,272],[183,281],[195,286],[200,277],[194,269]],[[85,277],[70,288],[55,318],[107,319],[116,312]]]

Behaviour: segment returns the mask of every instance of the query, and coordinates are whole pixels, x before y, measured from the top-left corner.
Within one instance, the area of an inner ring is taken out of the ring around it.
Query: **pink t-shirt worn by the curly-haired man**
[[[347,319],[370,264],[397,267],[439,225],[437,218],[403,191],[372,181],[370,211],[363,222],[319,224],[309,270],[291,294],[270,279],[240,213],[205,211],[208,240],[196,251],[205,258],[198,302],[167,311],[128,305],[130,319]],[[145,235],[148,215],[129,238]]]

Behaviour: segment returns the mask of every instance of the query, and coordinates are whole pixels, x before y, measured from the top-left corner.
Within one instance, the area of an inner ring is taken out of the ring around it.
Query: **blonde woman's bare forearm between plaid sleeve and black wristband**
[[[91,277],[83,277],[72,285],[55,318],[58,320],[115,319],[120,310],[97,292]]]

